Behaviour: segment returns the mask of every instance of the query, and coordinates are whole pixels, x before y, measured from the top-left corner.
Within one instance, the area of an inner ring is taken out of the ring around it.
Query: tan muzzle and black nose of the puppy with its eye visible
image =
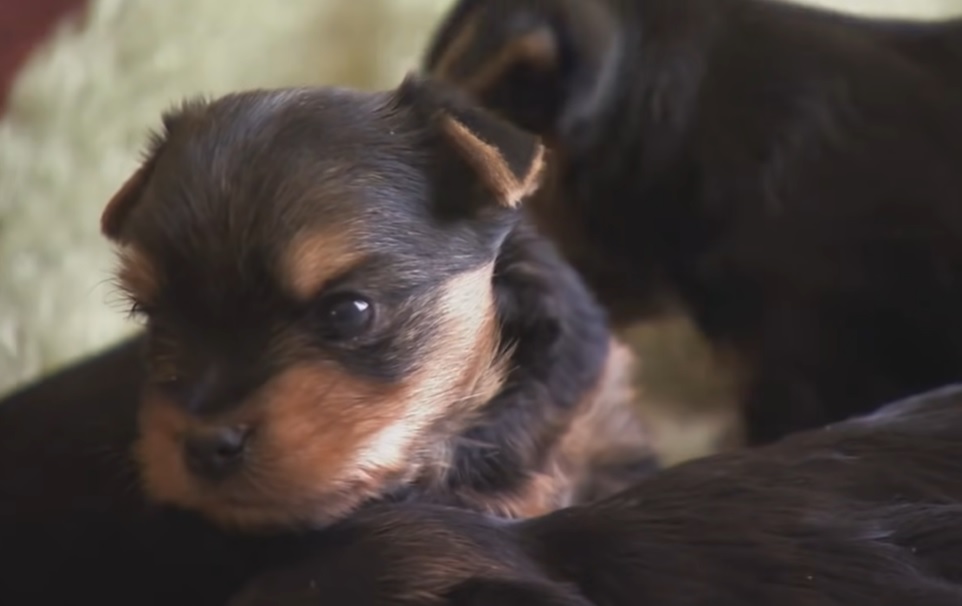
[[[258,533],[326,526],[409,483],[426,423],[364,386],[332,399],[331,384],[291,370],[216,417],[148,394],[135,445],[145,495]]]

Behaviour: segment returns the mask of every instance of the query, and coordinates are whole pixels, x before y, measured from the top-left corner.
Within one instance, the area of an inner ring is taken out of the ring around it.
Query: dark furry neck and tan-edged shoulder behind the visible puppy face
[[[501,356],[479,386],[498,388],[410,494],[527,517],[592,492],[599,470],[616,460],[618,474],[632,479],[647,471],[652,458],[632,409],[630,356],[612,346],[607,318],[580,278],[522,224],[502,247],[493,285]]]

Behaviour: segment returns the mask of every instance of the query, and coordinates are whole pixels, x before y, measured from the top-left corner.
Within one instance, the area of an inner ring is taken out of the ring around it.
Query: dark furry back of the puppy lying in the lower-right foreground
[[[962,385],[523,527],[599,604],[962,603]]]

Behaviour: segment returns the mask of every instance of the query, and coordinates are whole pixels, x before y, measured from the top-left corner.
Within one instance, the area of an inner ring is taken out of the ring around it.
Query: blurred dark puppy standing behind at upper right
[[[962,377],[960,29],[464,0],[425,66],[545,135],[539,225],[619,325],[680,302],[734,353],[761,443]]]

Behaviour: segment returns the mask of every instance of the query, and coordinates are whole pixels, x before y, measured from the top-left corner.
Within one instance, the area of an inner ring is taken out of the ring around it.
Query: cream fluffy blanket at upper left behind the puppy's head
[[[159,114],[249,87],[393,85],[447,0],[95,0],[21,72],[0,123],[0,392],[133,327],[101,208]]]

